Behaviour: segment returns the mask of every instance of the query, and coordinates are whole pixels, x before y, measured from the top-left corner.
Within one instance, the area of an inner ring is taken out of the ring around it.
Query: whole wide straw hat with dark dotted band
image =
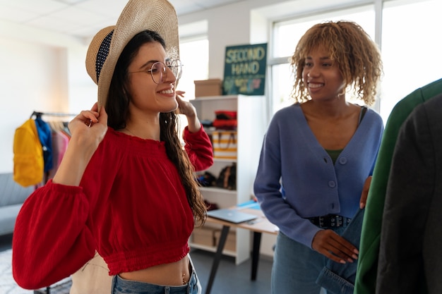
[[[167,0],[129,0],[117,25],[104,27],[90,42],[86,70],[98,85],[98,109],[106,104],[115,65],[126,44],[143,30],[153,30],[166,42],[167,56],[179,59],[178,18]]]

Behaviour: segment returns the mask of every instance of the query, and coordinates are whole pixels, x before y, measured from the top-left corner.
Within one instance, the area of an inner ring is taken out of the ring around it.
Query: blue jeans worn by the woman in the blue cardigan
[[[340,234],[345,228],[335,228]],[[278,233],[273,255],[272,293],[273,294],[320,294],[326,293],[316,284],[316,278],[328,258],[284,233]]]

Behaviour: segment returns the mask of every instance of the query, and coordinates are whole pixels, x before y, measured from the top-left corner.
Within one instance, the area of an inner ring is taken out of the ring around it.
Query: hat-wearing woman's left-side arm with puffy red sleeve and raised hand
[[[35,190],[17,216],[13,277],[37,289],[70,276],[91,259],[95,240],[88,227],[90,202],[80,180],[107,132],[107,114],[97,104],[69,123],[71,140],[53,180]]]

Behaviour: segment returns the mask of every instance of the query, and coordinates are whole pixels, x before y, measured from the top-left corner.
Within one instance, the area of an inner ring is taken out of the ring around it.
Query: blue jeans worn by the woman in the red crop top
[[[160,286],[139,281],[129,281],[120,276],[112,278],[112,294],[201,294],[201,284],[191,262],[191,278],[184,286]]]

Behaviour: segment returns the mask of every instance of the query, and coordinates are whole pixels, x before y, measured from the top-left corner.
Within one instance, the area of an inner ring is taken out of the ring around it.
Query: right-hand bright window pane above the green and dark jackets
[[[400,99],[442,78],[442,59],[438,58],[442,1],[400,4],[386,2],[383,9],[380,113],[384,123]]]

